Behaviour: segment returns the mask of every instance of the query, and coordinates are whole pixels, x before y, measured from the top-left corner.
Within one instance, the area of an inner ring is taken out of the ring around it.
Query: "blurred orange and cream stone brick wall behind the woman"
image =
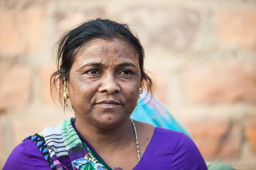
[[[53,46],[97,17],[137,31],[157,96],[205,160],[256,169],[255,0],[0,0],[0,168],[26,136],[72,117],[50,97]]]

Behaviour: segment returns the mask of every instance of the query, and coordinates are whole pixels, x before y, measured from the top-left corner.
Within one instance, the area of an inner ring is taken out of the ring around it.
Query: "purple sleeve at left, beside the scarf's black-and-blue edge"
[[[41,151],[31,139],[19,144],[7,159],[3,170],[51,170]]]

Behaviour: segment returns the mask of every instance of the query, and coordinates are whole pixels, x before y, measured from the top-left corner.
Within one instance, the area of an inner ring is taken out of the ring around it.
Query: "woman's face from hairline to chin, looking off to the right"
[[[140,79],[139,55],[128,43],[91,41],[75,57],[67,80],[76,121],[102,128],[121,124],[137,105]]]

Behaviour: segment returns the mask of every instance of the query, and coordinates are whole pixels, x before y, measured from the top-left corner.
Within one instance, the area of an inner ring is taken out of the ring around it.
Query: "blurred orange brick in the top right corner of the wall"
[[[217,12],[216,17],[221,41],[256,49],[256,10],[223,10]]]

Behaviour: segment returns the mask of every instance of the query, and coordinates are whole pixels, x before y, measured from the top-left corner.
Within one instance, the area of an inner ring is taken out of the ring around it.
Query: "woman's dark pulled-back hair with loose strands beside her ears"
[[[57,90],[57,83],[62,82],[64,77],[69,77],[76,54],[93,39],[108,41],[119,39],[128,42],[139,55],[142,87],[146,88],[148,93],[154,93],[154,81],[145,73],[143,67],[144,49],[139,38],[133,35],[127,24],[119,24],[109,19],[95,19],[84,22],[75,29],[64,33],[58,41],[60,43],[57,56],[58,71],[51,76],[52,96]]]

